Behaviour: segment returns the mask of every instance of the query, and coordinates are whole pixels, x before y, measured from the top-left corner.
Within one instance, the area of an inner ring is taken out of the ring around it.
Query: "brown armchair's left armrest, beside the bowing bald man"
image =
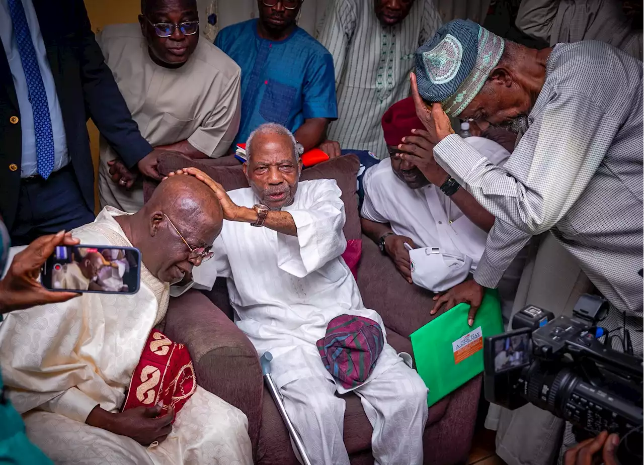
[[[246,414],[256,451],[264,385],[252,343],[209,298],[195,290],[170,299],[165,334],[187,346],[201,387]]]

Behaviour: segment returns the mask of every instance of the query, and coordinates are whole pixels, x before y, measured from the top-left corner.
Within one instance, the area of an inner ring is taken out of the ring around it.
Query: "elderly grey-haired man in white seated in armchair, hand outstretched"
[[[341,259],[345,211],[336,181],[298,182],[296,141],[283,126],[261,125],[247,150],[249,188],[227,193],[202,172],[187,169],[211,185],[229,220],[214,241],[215,258],[194,270],[194,282],[211,287],[217,276],[227,278],[237,325],[260,354],[272,354],[274,380],[314,465],[349,464],[345,401],[336,396],[348,390],[361,397],[374,428],[375,462],[422,464],[427,388],[386,343],[380,316],[365,308]],[[383,331],[373,371],[352,388],[332,376],[316,347],[341,315],[368,318]]]

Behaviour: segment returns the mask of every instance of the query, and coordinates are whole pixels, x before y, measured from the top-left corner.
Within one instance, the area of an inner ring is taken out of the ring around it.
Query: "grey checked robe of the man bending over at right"
[[[497,217],[475,273],[497,286],[551,230],[620,311],[644,317],[644,62],[596,41],[558,44],[529,128],[504,167],[459,136],[437,161]]]

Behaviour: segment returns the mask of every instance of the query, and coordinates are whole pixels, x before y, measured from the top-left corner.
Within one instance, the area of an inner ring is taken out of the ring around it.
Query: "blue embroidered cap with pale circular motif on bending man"
[[[455,19],[416,50],[418,91],[458,116],[477,96],[503,55],[504,40],[473,21]]]

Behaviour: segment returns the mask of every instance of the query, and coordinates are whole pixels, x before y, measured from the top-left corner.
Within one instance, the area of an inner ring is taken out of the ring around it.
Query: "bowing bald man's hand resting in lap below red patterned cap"
[[[109,431],[122,436],[131,437],[142,446],[152,442],[163,442],[172,432],[172,421],[175,411],[172,407],[159,417],[163,405],[153,407],[139,406],[125,412],[114,414]]]

